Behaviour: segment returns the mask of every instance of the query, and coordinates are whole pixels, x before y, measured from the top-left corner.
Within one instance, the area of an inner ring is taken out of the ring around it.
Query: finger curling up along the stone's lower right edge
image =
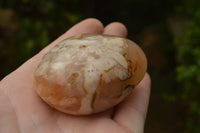
[[[114,120],[134,133],[143,133],[150,96],[150,77],[145,75],[130,96],[116,108]]]

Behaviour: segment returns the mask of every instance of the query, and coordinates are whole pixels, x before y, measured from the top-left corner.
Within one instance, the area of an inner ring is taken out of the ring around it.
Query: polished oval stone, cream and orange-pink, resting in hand
[[[68,114],[112,108],[130,94],[147,68],[134,42],[110,35],[76,35],[59,42],[35,71],[38,95]]]

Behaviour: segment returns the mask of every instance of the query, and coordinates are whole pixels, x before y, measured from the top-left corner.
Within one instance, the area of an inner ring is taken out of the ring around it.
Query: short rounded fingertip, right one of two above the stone
[[[128,31],[126,26],[124,26],[122,23],[119,22],[110,23],[104,28],[103,31],[103,34],[116,35],[120,37],[126,37],[127,33]]]

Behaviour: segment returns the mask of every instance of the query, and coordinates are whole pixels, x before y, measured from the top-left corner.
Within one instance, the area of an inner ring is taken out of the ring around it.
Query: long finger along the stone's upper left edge
[[[38,65],[41,58],[58,42],[76,35],[76,34],[82,34],[82,33],[99,33],[101,34],[103,32],[103,24],[94,18],[89,18],[86,20],[83,20],[79,22],[78,24],[74,25],[71,29],[69,29],[66,33],[61,35],[58,39],[56,39],[54,42],[52,42],[50,45],[48,45],[46,48],[44,48],[41,52],[39,52],[36,56],[29,59],[25,64],[23,64],[20,69],[23,73],[28,71],[28,73],[33,73],[36,66]],[[23,68],[23,69],[22,69]]]

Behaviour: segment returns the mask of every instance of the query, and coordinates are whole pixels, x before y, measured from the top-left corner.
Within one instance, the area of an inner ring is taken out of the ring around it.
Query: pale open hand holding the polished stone
[[[150,95],[150,77],[145,75],[126,100],[113,109],[89,116],[72,116],[45,104],[33,88],[33,73],[42,56],[61,40],[81,33],[126,37],[121,23],[105,28],[96,19],[73,26],[0,82],[1,133],[142,133]]]

